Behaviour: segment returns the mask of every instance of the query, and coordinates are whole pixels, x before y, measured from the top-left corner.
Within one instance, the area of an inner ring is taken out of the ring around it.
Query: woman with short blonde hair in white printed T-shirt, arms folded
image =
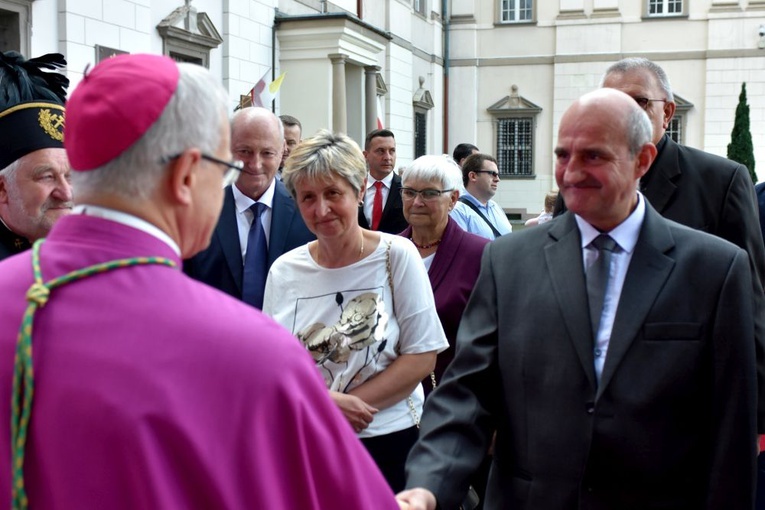
[[[422,415],[420,381],[448,344],[414,246],[359,226],[366,177],[364,156],[346,135],[323,130],[293,150],[282,179],[317,240],[274,262],[263,312],[313,356],[398,492]]]

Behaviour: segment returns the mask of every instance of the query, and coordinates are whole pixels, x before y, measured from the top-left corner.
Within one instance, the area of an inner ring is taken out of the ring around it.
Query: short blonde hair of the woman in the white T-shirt
[[[295,196],[295,184],[302,179],[321,180],[342,177],[354,192],[361,192],[367,176],[367,164],[358,144],[348,135],[322,129],[303,140],[284,164],[282,181]]]

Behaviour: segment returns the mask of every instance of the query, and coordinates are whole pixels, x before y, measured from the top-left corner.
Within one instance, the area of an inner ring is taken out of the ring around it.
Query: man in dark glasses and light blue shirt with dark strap
[[[513,231],[507,215],[492,197],[497,193],[497,160],[475,153],[462,164],[465,193],[449,213],[463,230],[494,240]]]

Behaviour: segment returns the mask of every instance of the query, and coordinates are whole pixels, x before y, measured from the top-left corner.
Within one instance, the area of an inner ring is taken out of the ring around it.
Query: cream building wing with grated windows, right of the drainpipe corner
[[[560,117],[625,57],[669,75],[681,143],[722,156],[746,82],[765,180],[763,0],[453,0],[449,35],[450,143],[474,140],[498,157],[495,198],[511,218],[541,210],[556,189]]]

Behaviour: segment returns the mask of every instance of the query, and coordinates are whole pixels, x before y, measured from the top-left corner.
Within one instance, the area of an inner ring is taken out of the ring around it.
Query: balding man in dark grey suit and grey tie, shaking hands
[[[576,101],[555,154],[569,213],[486,247],[400,501],[456,508],[496,430],[487,510],[751,508],[747,254],[637,191],[656,147],[622,92]]]

